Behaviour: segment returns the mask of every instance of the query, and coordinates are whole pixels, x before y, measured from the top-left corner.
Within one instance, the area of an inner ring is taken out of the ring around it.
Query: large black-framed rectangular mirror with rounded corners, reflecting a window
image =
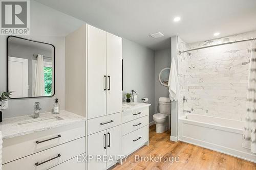
[[[7,38],[8,91],[12,99],[53,96],[55,47],[52,44]]]

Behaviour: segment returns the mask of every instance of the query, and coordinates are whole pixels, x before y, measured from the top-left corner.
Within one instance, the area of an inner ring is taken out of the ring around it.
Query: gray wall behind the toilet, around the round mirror
[[[159,113],[159,98],[169,97],[168,87],[159,82],[159,73],[165,67],[170,67],[170,48],[155,51],[155,111]]]

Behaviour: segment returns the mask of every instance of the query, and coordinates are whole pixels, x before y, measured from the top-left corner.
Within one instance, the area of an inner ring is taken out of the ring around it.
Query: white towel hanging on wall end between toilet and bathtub
[[[170,65],[170,74],[168,80],[169,88],[169,98],[171,101],[177,101],[179,99],[179,81],[175,59],[172,59],[172,64]]]

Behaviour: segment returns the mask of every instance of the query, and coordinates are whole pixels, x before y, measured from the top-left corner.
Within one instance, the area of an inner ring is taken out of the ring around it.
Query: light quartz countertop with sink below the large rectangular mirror
[[[85,117],[65,110],[61,110],[59,114],[40,113],[38,118],[33,118],[33,116],[26,115],[3,119],[3,122],[0,123],[3,139],[86,121]]]

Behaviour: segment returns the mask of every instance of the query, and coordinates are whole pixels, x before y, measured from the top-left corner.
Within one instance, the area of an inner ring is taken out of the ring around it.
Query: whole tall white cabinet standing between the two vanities
[[[96,156],[121,155],[122,38],[82,26],[66,37],[66,67],[66,110],[87,118],[87,169],[109,168]]]

